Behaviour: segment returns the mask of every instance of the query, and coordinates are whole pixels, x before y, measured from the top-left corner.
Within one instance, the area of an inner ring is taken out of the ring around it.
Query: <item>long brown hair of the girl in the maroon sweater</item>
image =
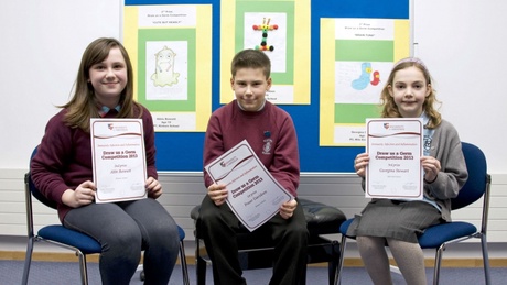
[[[91,42],[85,50],[77,78],[74,84],[74,95],[67,103],[58,106],[67,109],[65,123],[72,128],[79,128],[89,132],[89,119],[98,118],[98,107],[95,90],[89,79],[89,69],[93,65],[104,62],[109,56],[109,51],[118,47],[127,64],[127,85],[121,92],[119,103],[121,109],[117,118],[138,118],[142,116],[141,106],[133,100],[133,69],[127,50],[116,39],[100,37]]]

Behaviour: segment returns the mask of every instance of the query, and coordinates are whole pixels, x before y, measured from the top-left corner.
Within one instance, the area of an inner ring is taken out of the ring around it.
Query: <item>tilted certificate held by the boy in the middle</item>
[[[250,231],[277,215],[283,202],[293,199],[266,169],[246,140],[204,168],[213,182],[226,185],[227,205]]]

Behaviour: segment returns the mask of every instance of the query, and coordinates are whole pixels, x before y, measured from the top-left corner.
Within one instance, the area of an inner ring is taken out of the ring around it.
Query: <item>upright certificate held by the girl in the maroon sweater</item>
[[[91,119],[96,202],[147,197],[147,160],[141,119]]]

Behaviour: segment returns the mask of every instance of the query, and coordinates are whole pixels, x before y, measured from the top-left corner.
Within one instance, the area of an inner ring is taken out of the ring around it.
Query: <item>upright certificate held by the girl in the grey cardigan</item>
[[[422,199],[422,131],[419,118],[366,120],[366,197]]]

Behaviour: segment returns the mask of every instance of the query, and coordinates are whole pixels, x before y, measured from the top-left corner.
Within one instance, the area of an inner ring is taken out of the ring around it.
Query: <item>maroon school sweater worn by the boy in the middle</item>
[[[241,110],[236,100],[213,112],[204,142],[204,165],[227,152],[242,140],[273,177],[294,197],[300,180],[298,138],[288,112],[266,102],[258,112]],[[206,187],[213,184],[204,174]]]

